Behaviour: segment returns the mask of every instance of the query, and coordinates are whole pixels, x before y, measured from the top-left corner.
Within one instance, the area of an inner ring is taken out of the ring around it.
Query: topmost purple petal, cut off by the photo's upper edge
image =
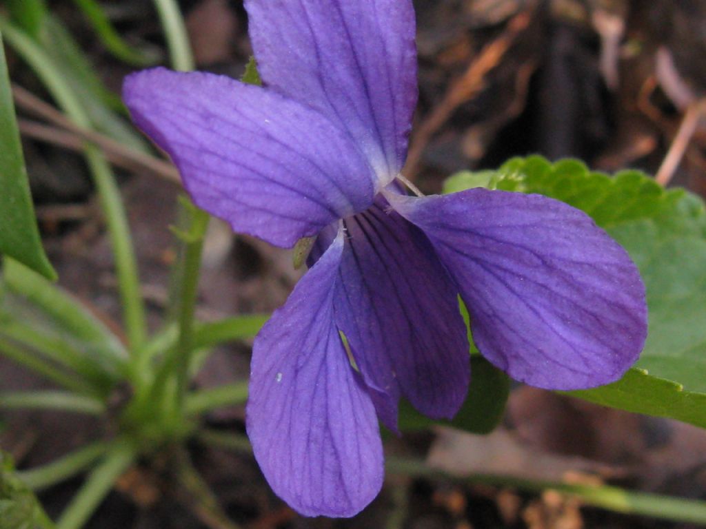
[[[246,0],[266,85],[349,131],[385,185],[417,104],[411,0]]]

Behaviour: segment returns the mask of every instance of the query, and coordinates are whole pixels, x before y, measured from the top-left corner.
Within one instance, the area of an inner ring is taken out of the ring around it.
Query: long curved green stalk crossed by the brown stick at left
[[[34,69],[71,121],[82,128],[92,129],[90,118],[46,52],[28,35],[14,28],[2,17],[0,30],[13,49]],[[112,169],[100,150],[87,145],[85,158],[100,197],[112,243],[128,341],[131,349],[136,351],[146,335],[145,308],[126,212]]]

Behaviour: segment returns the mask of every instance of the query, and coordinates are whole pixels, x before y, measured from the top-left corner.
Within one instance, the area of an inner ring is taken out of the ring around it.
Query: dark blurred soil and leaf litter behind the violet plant
[[[580,157],[592,169],[636,167],[657,174],[669,151],[681,161],[663,182],[706,194],[705,0],[417,0],[419,107],[406,172],[427,193],[462,169],[489,169],[515,155]],[[103,2],[128,42],[164,49],[152,2]],[[102,48],[73,2],[50,1],[116,92],[131,68]],[[239,77],[251,55],[239,0],[181,2],[201,69]],[[48,100],[8,51],[11,78]],[[166,62],[166,61],[165,61]],[[703,105],[701,105],[703,106]],[[21,113],[20,113],[21,114]],[[690,120],[690,121],[689,121]],[[686,123],[684,126],[683,123]],[[678,133],[681,127],[681,133]],[[686,130],[685,130],[686,129]],[[690,133],[690,134],[689,134]],[[37,214],[61,284],[107,322],[119,317],[116,279],[90,178],[79,154],[25,137]],[[151,174],[120,171],[152,323],[167,299],[175,258],[169,224],[179,188]],[[270,311],[299,277],[289,253],[213,223],[205,250],[199,316]],[[115,324],[112,324],[116,327]],[[198,383],[244,379],[249,344],[217,351]],[[3,389],[40,384],[4,360]],[[88,439],[100,423],[59,413],[4,413],[1,446],[30,468]],[[208,417],[244,432],[244,411]],[[388,454],[428,458],[455,473],[511,472],[532,479],[599,480],[634,490],[706,499],[706,432],[568,397],[516,387],[503,425],[487,437],[451,430],[390,436]],[[247,454],[194,444],[191,456],[234,521],[274,528],[662,528],[687,527],[586,508],[558,494],[524,494],[462,480],[388,473],[383,493],[356,518],[301,518],[274,497]],[[93,529],[224,529],[157,466],[133,468],[92,519]],[[80,485],[42,492],[56,516]]]

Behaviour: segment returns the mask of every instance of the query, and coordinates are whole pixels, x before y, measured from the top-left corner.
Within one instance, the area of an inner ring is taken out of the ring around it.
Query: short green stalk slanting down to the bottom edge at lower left
[[[90,477],[61,513],[56,529],[80,529],[97,506],[112,490],[115,482],[133,464],[137,451],[130,442],[119,439],[109,449],[105,458],[92,471]]]

